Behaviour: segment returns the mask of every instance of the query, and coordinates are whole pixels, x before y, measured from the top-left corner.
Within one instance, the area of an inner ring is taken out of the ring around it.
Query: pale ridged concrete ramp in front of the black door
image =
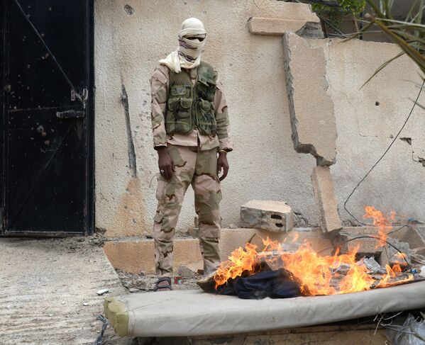
[[[123,295],[114,268],[88,237],[0,239],[0,344],[93,344],[104,296]],[[84,305],[87,304],[87,305]],[[133,344],[106,330],[104,344]]]

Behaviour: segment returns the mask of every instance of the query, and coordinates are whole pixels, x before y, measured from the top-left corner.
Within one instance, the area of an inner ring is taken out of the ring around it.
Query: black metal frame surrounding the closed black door
[[[85,137],[84,144],[87,147],[86,151],[86,166],[85,173],[87,176],[86,191],[84,196],[84,229],[81,232],[47,232],[47,231],[8,231],[6,229],[5,208],[6,208],[6,179],[4,176],[4,169],[7,166],[6,147],[4,145],[7,140],[6,123],[6,97],[4,87],[8,81],[9,72],[9,41],[8,37],[9,21],[10,21],[10,6],[11,1],[14,0],[0,0],[0,105],[1,115],[0,120],[0,162],[3,166],[0,167],[0,237],[71,237],[81,235],[92,235],[94,233],[94,202],[95,202],[95,183],[94,183],[94,1],[85,0],[85,24],[87,26],[86,46],[87,50],[84,51],[85,68],[89,71],[89,83],[87,89],[89,90],[89,98],[87,99],[86,115],[84,120]],[[66,1],[66,0],[62,0]],[[36,6],[36,5],[35,5]],[[4,11],[3,11],[4,10]]]

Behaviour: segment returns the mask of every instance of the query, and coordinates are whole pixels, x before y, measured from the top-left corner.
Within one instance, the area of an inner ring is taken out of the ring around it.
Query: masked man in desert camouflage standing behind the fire
[[[187,19],[178,38],[177,50],[160,60],[150,79],[153,142],[160,169],[153,225],[159,277],[155,290],[172,290],[173,238],[189,184],[199,217],[204,273],[219,266],[220,181],[228,174],[226,154],[233,149],[221,82],[214,68],[201,60],[204,24]]]

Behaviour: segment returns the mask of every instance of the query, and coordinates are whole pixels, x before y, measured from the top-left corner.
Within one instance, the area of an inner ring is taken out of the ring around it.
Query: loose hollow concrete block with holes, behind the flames
[[[284,201],[250,200],[241,206],[243,227],[255,227],[275,232],[294,227],[294,213]]]

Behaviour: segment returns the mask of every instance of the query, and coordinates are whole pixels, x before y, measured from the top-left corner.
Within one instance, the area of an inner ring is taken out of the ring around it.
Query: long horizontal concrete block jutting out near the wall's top
[[[248,19],[248,29],[253,35],[282,36],[291,32],[303,37],[324,37],[319,18],[316,21],[294,21],[282,18],[251,17]]]

